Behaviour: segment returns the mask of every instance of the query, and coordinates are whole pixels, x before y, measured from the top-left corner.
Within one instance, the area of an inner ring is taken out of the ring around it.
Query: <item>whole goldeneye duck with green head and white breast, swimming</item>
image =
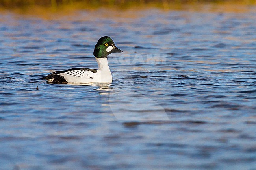
[[[115,43],[110,37],[101,37],[95,45],[93,52],[98,63],[98,70],[89,68],[71,68],[50,73],[45,79],[48,82],[57,84],[94,82],[111,83],[112,75],[107,59],[107,56],[111,53],[122,53],[122,50],[115,46]]]

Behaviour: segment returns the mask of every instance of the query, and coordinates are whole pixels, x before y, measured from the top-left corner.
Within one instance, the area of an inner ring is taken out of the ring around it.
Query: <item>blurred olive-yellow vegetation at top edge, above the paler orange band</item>
[[[0,7],[3,9],[26,7],[91,9],[98,7],[129,8],[145,6],[169,8],[172,5],[202,3],[256,5],[256,0],[0,0]]]

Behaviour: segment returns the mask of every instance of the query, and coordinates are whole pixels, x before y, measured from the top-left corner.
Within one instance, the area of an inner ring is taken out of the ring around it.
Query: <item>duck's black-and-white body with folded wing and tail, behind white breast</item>
[[[72,68],[63,71],[50,73],[45,77],[48,82],[65,84],[67,82],[86,83],[91,82],[97,73],[96,69]]]

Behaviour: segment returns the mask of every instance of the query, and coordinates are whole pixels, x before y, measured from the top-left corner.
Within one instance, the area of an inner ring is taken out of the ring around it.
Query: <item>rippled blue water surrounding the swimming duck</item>
[[[0,14],[0,170],[255,170],[256,13],[53,18]],[[41,79],[103,35],[112,84]]]

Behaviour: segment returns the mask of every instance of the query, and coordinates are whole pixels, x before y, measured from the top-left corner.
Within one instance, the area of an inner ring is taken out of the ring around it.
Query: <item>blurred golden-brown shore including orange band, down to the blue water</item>
[[[109,8],[113,10],[158,8],[202,12],[247,12],[256,0],[0,0],[0,10],[21,13],[74,11]],[[33,11],[33,12],[32,12]]]

